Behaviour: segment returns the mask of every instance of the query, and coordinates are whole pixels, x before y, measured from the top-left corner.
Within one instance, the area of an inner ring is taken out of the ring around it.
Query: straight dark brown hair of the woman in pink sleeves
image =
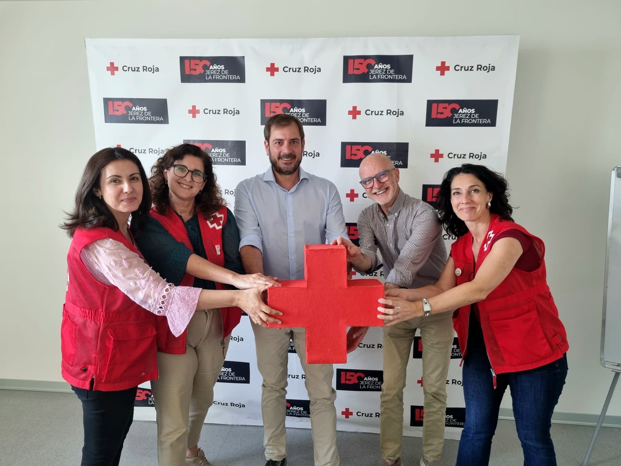
[[[78,190],[76,190],[75,206],[71,212],[65,212],[66,220],[59,225],[63,230],[67,231],[70,238],[73,238],[79,227],[94,228],[108,227],[113,230],[119,229],[116,218],[107,208],[104,199],[99,199],[93,193],[93,188],[101,189],[99,186],[99,178],[101,171],[110,162],[115,160],[131,160],[138,167],[140,172],[140,181],[142,181],[142,201],[138,210],[132,212],[132,223],[142,222],[144,216],[151,209],[151,193],[147,181],[147,173],[142,168],[142,163],[136,155],[129,150],[121,147],[106,147],[93,154],[84,167],[82,178],[79,181]]]

